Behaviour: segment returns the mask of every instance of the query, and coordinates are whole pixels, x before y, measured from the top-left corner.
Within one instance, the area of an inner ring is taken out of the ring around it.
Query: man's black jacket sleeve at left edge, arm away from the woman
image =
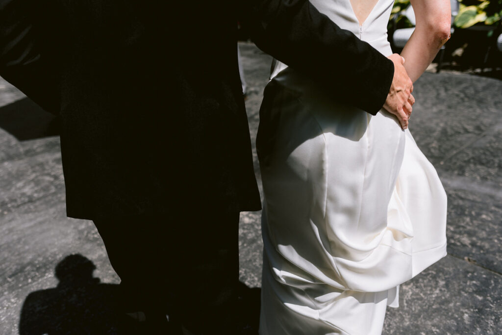
[[[42,11],[37,3],[41,2],[0,0],[0,76],[45,110],[58,114],[56,62],[41,48],[44,42],[45,48],[53,46],[52,41],[43,40],[50,26],[40,22],[51,22],[50,11]]]

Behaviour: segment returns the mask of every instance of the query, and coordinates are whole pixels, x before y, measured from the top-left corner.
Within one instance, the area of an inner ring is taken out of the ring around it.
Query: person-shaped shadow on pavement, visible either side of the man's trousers
[[[121,299],[120,286],[100,283],[93,277],[95,269],[79,254],[59,262],[55,269],[58,285],[32,292],[25,299],[20,335],[145,334],[141,313],[127,314],[136,309]],[[258,334],[260,294],[260,288],[239,283],[235,316],[241,335]]]

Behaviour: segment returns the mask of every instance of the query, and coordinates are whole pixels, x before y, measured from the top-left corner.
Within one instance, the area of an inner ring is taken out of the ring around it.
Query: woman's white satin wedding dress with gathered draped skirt
[[[392,54],[393,0],[379,0],[362,25],[349,0],[311,3]],[[265,195],[260,333],[380,334],[399,285],[446,255],[444,189],[393,115],[338,103],[279,62],[272,76],[257,141]]]

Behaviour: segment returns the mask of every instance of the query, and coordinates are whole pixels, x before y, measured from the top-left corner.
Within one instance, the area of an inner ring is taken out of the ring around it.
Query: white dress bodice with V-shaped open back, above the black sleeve
[[[378,0],[369,15],[359,24],[350,0],[309,0],[322,14],[326,15],[338,27],[348,30],[360,40],[369,43],[385,56],[392,54],[387,40],[387,24],[391,16],[393,0]],[[286,64],[274,60],[271,78],[284,70]]]

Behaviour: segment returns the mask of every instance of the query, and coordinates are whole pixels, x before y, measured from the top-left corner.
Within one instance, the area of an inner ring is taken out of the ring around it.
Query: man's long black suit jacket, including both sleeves
[[[306,0],[0,0],[0,75],[61,117],[69,216],[260,208],[238,19],[339,98],[383,105],[392,62]]]

